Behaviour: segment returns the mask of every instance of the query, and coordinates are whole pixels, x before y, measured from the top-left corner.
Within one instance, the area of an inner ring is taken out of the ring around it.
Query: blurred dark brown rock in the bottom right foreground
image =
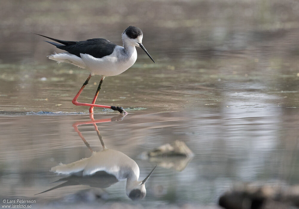
[[[299,186],[243,185],[225,192],[219,205],[226,209],[284,209],[299,207]]]

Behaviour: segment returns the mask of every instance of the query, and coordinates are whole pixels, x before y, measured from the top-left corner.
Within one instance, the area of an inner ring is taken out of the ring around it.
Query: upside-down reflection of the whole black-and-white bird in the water
[[[91,151],[89,158],[83,158],[76,162],[69,164],[57,165],[51,168],[52,172],[59,174],[69,174],[70,176],[59,179],[56,182],[64,183],[48,189],[44,192],[48,192],[57,188],[72,186],[72,185],[89,185],[97,188],[107,188],[119,181],[127,180],[126,182],[126,194],[132,200],[143,199],[146,195],[145,182],[155,170],[156,166],[147,175],[147,177],[138,181],[139,179],[139,167],[137,163],[129,158],[126,154],[108,149],[102,140],[102,136],[97,128],[97,123],[120,121],[124,116],[119,115],[110,119],[94,120],[93,114],[90,114],[91,121],[76,122],[73,124],[75,131],[79,134],[85,145]],[[100,139],[103,150],[95,152],[91,149],[88,142],[79,131],[79,125],[93,124],[94,129]],[[39,193],[40,194],[40,193]]]

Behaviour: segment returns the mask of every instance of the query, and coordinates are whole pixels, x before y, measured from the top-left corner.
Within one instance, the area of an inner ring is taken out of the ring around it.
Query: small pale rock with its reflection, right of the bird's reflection
[[[143,152],[140,158],[149,160],[160,167],[182,171],[188,165],[193,155],[193,152],[184,142],[176,140],[171,145],[162,145],[149,152]]]

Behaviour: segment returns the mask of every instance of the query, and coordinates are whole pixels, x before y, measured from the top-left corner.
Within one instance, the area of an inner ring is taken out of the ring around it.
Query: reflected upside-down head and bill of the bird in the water
[[[147,190],[145,189],[145,182],[156,167],[157,166],[152,169],[152,171],[149,173],[149,175],[147,175],[147,177],[145,177],[143,181],[130,181],[130,179],[127,179],[126,194],[129,198],[131,198],[132,200],[138,200],[145,197],[145,195],[147,194]]]

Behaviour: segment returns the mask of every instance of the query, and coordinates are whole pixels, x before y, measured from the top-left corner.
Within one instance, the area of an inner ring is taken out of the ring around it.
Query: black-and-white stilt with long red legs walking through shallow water
[[[35,33],[36,34],[36,33]],[[36,34],[43,36],[40,34]],[[48,42],[53,44],[59,49],[65,50],[64,53],[55,53],[49,57],[60,62],[67,62],[74,64],[78,67],[85,68],[90,71],[90,74],[83,86],[80,88],[77,95],[72,100],[74,105],[78,106],[90,106],[89,113],[93,113],[93,107],[109,108],[112,110],[118,110],[120,113],[127,114],[123,107],[115,107],[108,105],[96,105],[95,101],[101,89],[103,80],[107,76],[116,76],[123,73],[129,67],[131,67],[137,59],[137,51],[135,47],[141,47],[147,53],[149,58],[155,63],[147,50],[142,45],[143,33],[138,27],[129,26],[122,33],[123,47],[118,46],[106,39],[88,39],[86,41],[63,41],[59,39],[53,39],[47,36],[45,38],[51,39],[55,42]],[[89,79],[93,75],[101,75],[101,81],[97,87],[97,91],[94,95],[94,99],[91,104],[77,102],[80,93],[84,87],[88,84]]]

